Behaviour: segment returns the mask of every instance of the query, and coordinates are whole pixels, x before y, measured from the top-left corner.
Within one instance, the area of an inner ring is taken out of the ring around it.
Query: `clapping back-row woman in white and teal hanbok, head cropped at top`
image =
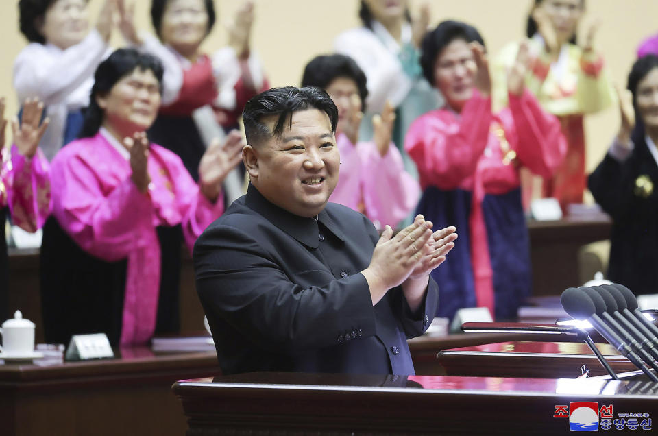
[[[334,40],[337,53],[350,56],[367,77],[367,107],[360,138],[374,137],[371,123],[387,104],[395,109],[393,143],[400,147],[407,171],[417,176],[415,165],[402,149],[409,125],[428,110],[441,106],[441,96],[424,79],[419,48],[430,20],[424,5],[412,19],[407,0],[361,0],[362,27],[341,33]]]

